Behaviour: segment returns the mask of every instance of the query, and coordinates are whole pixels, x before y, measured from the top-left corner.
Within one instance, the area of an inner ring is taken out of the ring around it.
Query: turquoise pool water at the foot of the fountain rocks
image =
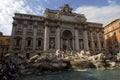
[[[24,76],[20,80],[120,80],[120,67],[114,70],[64,71],[49,75]]]

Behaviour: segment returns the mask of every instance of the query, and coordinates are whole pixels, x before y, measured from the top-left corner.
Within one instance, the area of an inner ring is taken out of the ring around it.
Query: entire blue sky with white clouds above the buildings
[[[87,21],[104,26],[120,18],[120,0],[0,0],[0,32],[10,35],[14,13],[42,16],[46,8],[58,10],[69,4],[73,12],[84,14]]]

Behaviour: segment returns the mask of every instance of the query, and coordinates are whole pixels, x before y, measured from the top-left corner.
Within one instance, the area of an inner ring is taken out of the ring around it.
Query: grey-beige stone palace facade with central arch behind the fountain
[[[42,52],[105,52],[101,23],[87,22],[84,14],[65,4],[60,10],[46,9],[43,16],[15,13],[9,51],[27,58]]]

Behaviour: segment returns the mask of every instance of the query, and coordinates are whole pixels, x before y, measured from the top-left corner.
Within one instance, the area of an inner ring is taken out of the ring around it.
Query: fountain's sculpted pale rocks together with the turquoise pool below
[[[84,51],[56,51],[56,53],[34,55],[29,60],[21,56],[8,56],[6,59],[20,65],[18,73],[21,76],[18,78],[20,80],[101,80],[100,77],[108,77],[108,75],[116,76],[119,80],[120,75],[117,75],[119,73],[114,68],[119,65],[120,56],[116,56],[108,56],[103,53],[92,55]],[[68,69],[71,71],[66,71]],[[79,72],[79,70],[87,71]],[[118,70],[120,69],[118,68]],[[110,79],[103,78],[102,80]]]

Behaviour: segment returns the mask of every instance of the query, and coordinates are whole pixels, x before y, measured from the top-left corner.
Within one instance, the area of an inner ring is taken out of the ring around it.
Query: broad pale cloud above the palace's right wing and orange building
[[[120,18],[120,5],[108,5],[103,7],[82,6],[78,7],[74,12],[85,14],[90,22],[103,23],[104,26],[111,21]]]

